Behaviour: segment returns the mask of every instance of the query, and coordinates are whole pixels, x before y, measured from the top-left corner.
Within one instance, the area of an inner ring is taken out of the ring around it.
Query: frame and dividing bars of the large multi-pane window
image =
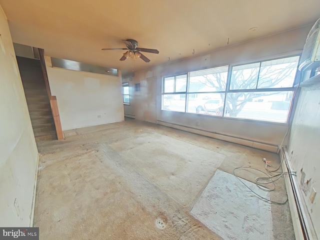
[[[175,75],[162,76],[162,81],[161,81],[161,84],[162,84],[162,87],[161,87],[161,110],[174,111],[174,110],[163,109],[163,95],[165,95],[165,94],[181,94],[182,93],[182,94],[185,94],[185,109],[184,109],[183,113],[197,114],[197,115],[208,116],[208,117],[219,117],[219,118],[222,117],[222,118],[234,119],[234,120],[258,121],[258,122],[266,122],[266,123],[273,123],[273,124],[285,124],[285,125],[288,125],[289,124],[290,115],[291,115],[291,112],[292,112],[292,104],[293,104],[293,101],[294,101],[295,93],[297,91],[296,84],[299,81],[299,70],[298,70],[298,67],[296,67],[294,80],[293,80],[292,86],[290,86],[290,87],[257,88],[257,86],[258,86],[258,79],[257,79],[257,83],[256,83],[256,86],[255,86],[256,88],[230,89],[230,82],[231,82],[232,68],[234,66],[246,65],[246,64],[251,64],[251,63],[259,63],[258,76],[257,76],[257,78],[259,78],[262,62],[281,59],[281,58],[294,57],[294,56],[298,56],[297,62],[299,62],[299,59],[301,57],[301,52],[297,52],[296,51],[296,52],[292,52],[291,54],[277,55],[276,57],[257,58],[256,60],[252,60],[252,61],[242,61],[242,62],[237,62],[237,63],[233,63],[233,64],[219,65],[219,66],[214,66],[214,67],[206,67],[206,68],[202,68],[202,69],[195,69],[195,70],[192,70],[192,71],[188,71],[186,73],[186,91],[183,91],[183,92],[164,92],[164,79],[166,77],[172,77],[172,76],[174,77],[174,88],[173,88],[173,90],[175,91],[175,79],[176,79],[175,77],[179,76],[179,75],[184,75],[185,73],[178,73],[178,74],[175,74]],[[224,91],[189,92],[190,72],[200,71],[200,70],[204,70],[204,69],[218,68],[218,67],[223,67],[223,66],[227,66],[228,67],[227,79],[226,79],[226,85],[225,85],[225,90]],[[276,92],[276,91],[278,91],[278,92],[280,92],[280,91],[292,91],[292,98],[291,98],[290,105],[289,105],[288,112],[287,112],[287,116],[286,116],[286,119],[285,119],[284,122],[272,121],[272,120],[260,120],[260,119],[242,118],[242,117],[232,117],[232,116],[226,116],[225,115],[225,108],[226,108],[227,94],[228,93],[232,93],[232,92]],[[210,114],[187,112],[189,94],[197,94],[197,93],[224,93],[222,115],[219,116],[219,115],[210,115]],[[174,112],[181,112],[181,111],[174,111]]]

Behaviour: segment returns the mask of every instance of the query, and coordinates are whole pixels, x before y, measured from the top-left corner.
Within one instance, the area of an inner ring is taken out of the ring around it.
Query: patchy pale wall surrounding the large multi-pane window
[[[267,143],[270,145],[278,145],[281,143],[285,132],[288,129],[288,124],[252,121],[244,119],[220,118],[192,113],[172,112],[161,110],[161,79],[163,76],[185,73],[191,70],[227,65],[238,64],[250,61],[262,60],[272,57],[280,57],[289,53],[301,52],[305,42],[306,35],[311,28],[311,25],[279,34],[256,39],[254,41],[245,42],[242,44],[226,47],[207,54],[194,56],[188,59],[167,62],[147,70],[136,71],[134,73],[132,85],[136,82],[147,81],[150,77],[157,78],[156,86],[156,119],[157,122],[170,123],[170,126],[181,128],[189,127],[193,132],[200,134],[208,133],[216,138],[234,141],[237,143],[250,145],[261,148],[262,145],[256,142]],[[156,57],[156,56],[155,56]],[[151,99],[146,94],[143,94],[145,89],[141,88],[141,94],[134,94],[135,98],[131,108],[137,119],[143,120],[143,103]],[[155,116],[154,116],[155,117]],[[167,124],[165,123],[165,124]],[[173,123],[173,124],[171,124]],[[181,128],[182,129],[182,128]],[[196,129],[203,131],[196,131]],[[236,139],[233,139],[233,138]],[[247,139],[252,142],[245,142],[242,139]],[[264,147],[264,148],[263,148]],[[268,146],[263,146],[262,149],[271,150]],[[266,148],[265,148],[266,147]],[[275,149],[273,146],[272,149]]]

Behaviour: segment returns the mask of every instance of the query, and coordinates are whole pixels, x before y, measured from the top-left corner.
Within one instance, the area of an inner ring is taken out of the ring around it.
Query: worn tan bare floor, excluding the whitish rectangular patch
[[[279,164],[275,153],[138,120],[65,136],[38,144],[40,239],[222,239],[190,214],[214,172]],[[270,197],[286,198],[282,178]],[[294,239],[288,203],[271,213],[273,239]]]

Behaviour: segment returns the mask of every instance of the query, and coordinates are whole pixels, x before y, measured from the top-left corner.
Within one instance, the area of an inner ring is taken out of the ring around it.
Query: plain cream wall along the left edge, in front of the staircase
[[[37,148],[0,6],[0,226],[29,226]]]

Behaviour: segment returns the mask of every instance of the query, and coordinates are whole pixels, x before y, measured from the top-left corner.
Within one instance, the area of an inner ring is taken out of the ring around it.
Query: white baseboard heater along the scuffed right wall
[[[281,147],[280,158],[282,161],[282,170],[294,172],[292,162],[286,147]],[[306,210],[306,205],[302,192],[299,187],[298,179],[295,175],[284,175],[285,187],[288,196],[291,218],[296,240],[317,240],[312,221]]]

